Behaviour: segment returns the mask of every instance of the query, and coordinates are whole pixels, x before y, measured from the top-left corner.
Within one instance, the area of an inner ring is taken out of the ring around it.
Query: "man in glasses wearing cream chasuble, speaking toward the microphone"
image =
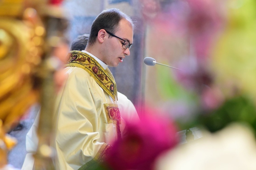
[[[56,169],[86,169],[122,137],[117,88],[108,66],[130,55],[133,21],[116,8],[94,20],[85,50],[71,51],[56,100]]]

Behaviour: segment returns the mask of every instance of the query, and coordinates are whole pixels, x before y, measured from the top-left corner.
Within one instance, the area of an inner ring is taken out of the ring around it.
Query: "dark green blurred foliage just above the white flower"
[[[218,109],[202,112],[197,118],[198,126],[210,132],[219,131],[232,122],[249,124],[256,132],[256,109],[250,99],[244,96],[228,99]]]

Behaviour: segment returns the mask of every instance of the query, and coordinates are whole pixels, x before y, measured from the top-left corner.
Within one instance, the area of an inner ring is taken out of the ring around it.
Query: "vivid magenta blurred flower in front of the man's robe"
[[[139,115],[140,121],[127,122],[123,138],[113,143],[106,157],[113,170],[151,170],[157,156],[179,142],[176,126],[169,118],[149,108]]]

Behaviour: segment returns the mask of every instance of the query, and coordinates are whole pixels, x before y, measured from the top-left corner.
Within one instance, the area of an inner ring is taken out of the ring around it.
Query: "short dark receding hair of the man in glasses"
[[[101,29],[107,30],[111,33],[115,33],[118,29],[119,22],[122,19],[126,19],[131,23],[131,27],[134,28],[132,19],[120,11],[117,8],[111,8],[108,10],[102,11],[91,25],[91,32],[88,40],[88,45],[93,45],[96,42],[98,32]],[[109,35],[111,36],[111,35]]]

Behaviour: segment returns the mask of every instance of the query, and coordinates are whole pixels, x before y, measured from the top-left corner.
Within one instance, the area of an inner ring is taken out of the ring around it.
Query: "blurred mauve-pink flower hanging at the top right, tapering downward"
[[[205,58],[215,33],[222,23],[222,12],[215,0],[186,0],[189,12],[186,17],[188,35],[194,46],[196,56]]]

